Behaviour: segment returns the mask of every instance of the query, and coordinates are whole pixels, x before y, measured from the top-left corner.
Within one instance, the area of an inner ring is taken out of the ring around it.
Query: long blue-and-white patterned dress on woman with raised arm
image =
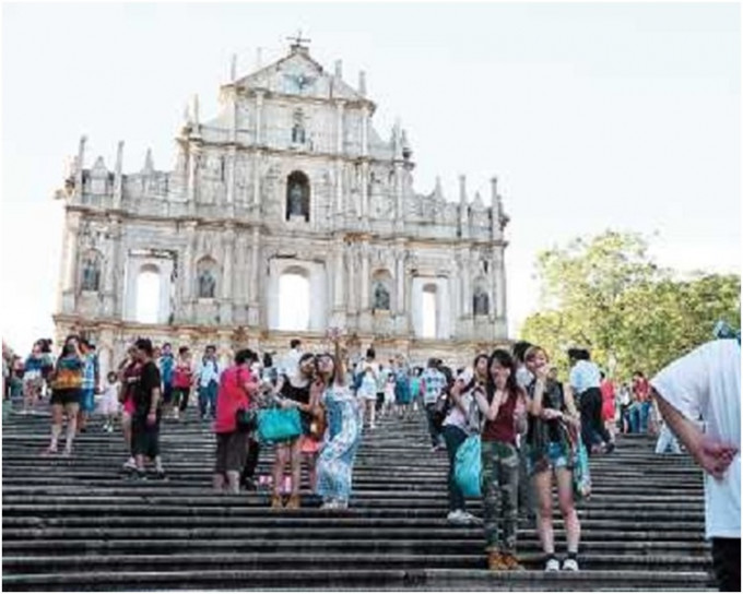
[[[362,437],[361,411],[349,388],[333,385],[322,395],[328,415],[326,445],[317,462],[317,492],[326,501],[347,503],[353,463]]]

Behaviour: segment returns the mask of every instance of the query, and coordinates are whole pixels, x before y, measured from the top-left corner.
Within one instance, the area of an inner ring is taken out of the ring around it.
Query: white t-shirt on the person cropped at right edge
[[[738,341],[704,344],[660,371],[650,384],[706,432],[741,447],[741,347]],[[720,480],[705,474],[707,538],[741,537],[741,454]]]

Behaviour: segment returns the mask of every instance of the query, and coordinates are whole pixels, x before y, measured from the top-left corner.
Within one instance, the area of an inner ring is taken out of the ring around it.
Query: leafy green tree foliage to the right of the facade
[[[679,278],[658,268],[636,234],[576,239],[542,252],[536,269],[541,311],[521,334],[544,346],[563,371],[566,349],[585,346],[615,377],[653,373],[710,340],[717,320],[740,326],[740,275]]]

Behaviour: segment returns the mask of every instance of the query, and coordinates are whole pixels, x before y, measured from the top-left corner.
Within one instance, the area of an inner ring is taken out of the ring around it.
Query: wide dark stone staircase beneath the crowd
[[[490,572],[481,526],[446,521],[445,452],[422,415],[366,430],[345,511],[269,509],[268,492],[214,494],[214,438],[191,416],[166,421],[167,480],[120,471],[119,432],[92,427],[72,458],[43,458],[49,416],[11,414],[2,432],[2,585],[20,590],[710,590],[701,474],[658,456],[645,436],[592,461],[579,504],[579,572],[545,573],[521,521],[520,572]],[[96,425],[98,425],[96,423]],[[272,460],[261,452],[259,475]],[[304,477],[306,480],[306,476]],[[480,514],[479,501],[470,511]],[[556,513],[558,556],[565,532]]]

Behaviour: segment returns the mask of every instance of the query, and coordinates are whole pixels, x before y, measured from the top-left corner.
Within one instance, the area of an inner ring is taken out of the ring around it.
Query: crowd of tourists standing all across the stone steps
[[[338,330],[328,338],[329,353],[307,353],[300,341],[292,341],[276,365],[270,354],[261,357],[248,348],[222,365],[214,346],[194,363],[188,346],[176,355],[168,343],[157,347],[140,338],[102,382],[95,346],[71,335],[56,360],[50,341],[38,341],[17,367],[16,360],[5,360],[3,348],[3,377],[15,393],[14,380],[22,378],[22,413],[50,391],[51,439],[45,455],[58,452],[64,418],[62,455],[72,453],[75,436],[89,428],[98,394],[102,429],[111,431],[118,419],[129,453],[123,468],[139,479],[148,477],[148,462],[155,477],[166,477],[161,420],[182,418],[196,400],[200,419],[212,423],[216,439],[213,488],[232,494],[257,488],[260,452],[273,448],[273,509],[302,506],[303,465],[325,509],[347,508],[362,433],[374,431],[380,417],[410,417],[421,409],[432,451],[446,450],[449,460],[447,521],[482,524],[488,567],[499,571],[522,569],[516,548],[519,515],[535,516],[546,571],[579,569],[576,500],[590,496],[590,456],[611,454],[617,432],[660,431],[659,452],[680,451],[679,436],[711,476],[722,476],[739,455],[733,447],[710,447],[708,438],[695,432],[697,425],[689,428],[669,413],[670,402],[695,418],[710,418],[701,404],[691,403],[705,397],[701,388],[683,388],[680,382],[687,378],[673,366],[653,381],[638,371],[632,387],[622,383],[617,389],[582,348],[568,351],[570,371],[561,381],[550,354],[527,342],[479,354],[470,367],[452,369],[436,358],[425,368],[401,356],[380,361],[374,348],[352,361]],[[728,433],[735,430],[740,443],[740,425],[726,426]],[[740,512],[740,459],[736,468]],[[567,540],[562,562],[555,547],[553,489]],[[482,499],[482,519],[467,511],[472,497]],[[710,532],[707,511],[708,535],[715,538],[717,528]],[[740,516],[738,522],[740,556]],[[730,531],[722,532],[726,543],[715,548],[716,562],[728,568]]]

